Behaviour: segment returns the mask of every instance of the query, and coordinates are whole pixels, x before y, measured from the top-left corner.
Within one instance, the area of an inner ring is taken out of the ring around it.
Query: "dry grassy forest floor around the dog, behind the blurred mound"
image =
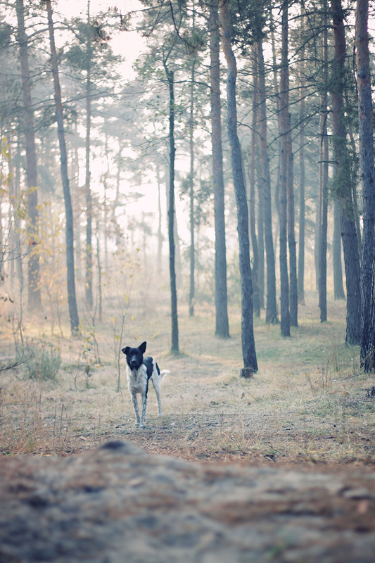
[[[217,339],[212,308],[196,307],[189,318],[181,307],[179,355],[170,353],[167,306],[162,313],[133,309],[121,339],[101,323],[85,339],[69,338],[68,329],[65,337],[51,335],[39,326],[39,345],[52,344],[63,359],[52,381],[30,379],[23,364],[5,369],[15,353],[14,336],[4,324],[1,454],[66,456],[120,438],[149,453],[200,462],[375,463],[375,376],[360,372],[359,348],[345,345],[345,302],[329,301],[329,322],[321,324],[311,293],[288,339],[281,338],[279,325],[255,320],[259,371],[252,379],[239,377],[238,310],[230,311],[230,320],[231,338]],[[30,336],[34,324],[26,323],[23,334]],[[163,382],[163,416],[157,415],[151,387],[146,429],[136,429],[124,355],[117,391],[115,350],[144,340],[147,353],[170,374]],[[94,348],[87,377],[85,360]]]

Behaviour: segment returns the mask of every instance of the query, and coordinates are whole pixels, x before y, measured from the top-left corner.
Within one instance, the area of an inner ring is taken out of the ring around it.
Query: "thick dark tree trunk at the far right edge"
[[[357,91],[360,129],[360,171],[363,194],[363,237],[361,269],[361,367],[375,369],[374,305],[374,227],[375,169],[369,60],[369,0],[357,0],[355,47],[357,54]]]

